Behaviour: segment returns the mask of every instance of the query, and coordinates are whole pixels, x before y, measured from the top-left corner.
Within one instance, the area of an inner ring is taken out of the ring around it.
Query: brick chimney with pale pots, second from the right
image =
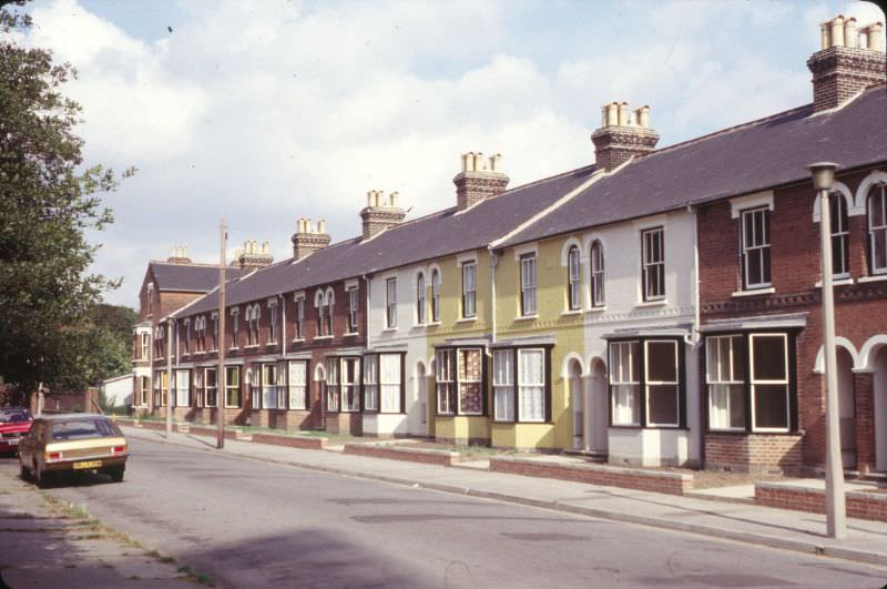
[[[650,106],[635,109],[632,120],[628,102],[604,104],[601,112],[602,126],[591,134],[599,170],[613,170],[655,149],[659,133],[650,129]]]

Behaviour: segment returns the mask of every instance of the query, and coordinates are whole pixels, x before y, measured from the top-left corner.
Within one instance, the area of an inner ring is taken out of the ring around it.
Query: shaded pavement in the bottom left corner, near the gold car
[[[9,473],[0,474],[0,587],[195,587],[171,559],[146,552],[75,507],[52,505]]]

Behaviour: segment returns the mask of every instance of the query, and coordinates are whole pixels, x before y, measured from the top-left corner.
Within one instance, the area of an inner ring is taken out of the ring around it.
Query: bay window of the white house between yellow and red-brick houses
[[[682,341],[639,338],[610,343],[611,425],[682,427]]]

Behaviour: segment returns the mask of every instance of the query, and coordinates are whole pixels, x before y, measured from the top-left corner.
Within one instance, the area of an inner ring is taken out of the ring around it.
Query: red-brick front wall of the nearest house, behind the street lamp
[[[849,264],[848,272],[835,277],[842,454],[845,467],[863,471],[887,467],[887,275],[873,273],[869,232],[873,203],[884,182],[887,166],[838,174],[832,196],[845,211]],[[737,212],[762,207],[769,217],[772,277],[768,286],[748,288],[736,262]],[[710,337],[784,334],[788,349],[786,426],[757,431],[750,420],[737,431],[720,431],[708,423],[706,465],[786,470],[824,466],[819,206],[813,185],[701,206],[699,227],[703,331]],[[704,370],[701,377],[705,382]],[[756,409],[754,400],[747,399],[748,410]]]

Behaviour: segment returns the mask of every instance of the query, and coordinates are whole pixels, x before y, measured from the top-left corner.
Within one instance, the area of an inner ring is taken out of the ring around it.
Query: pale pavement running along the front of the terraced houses
[[[163,433],[123,426],[133,438]],[[171,444],[218,451],[214,440],[173,433]],[[228,455],[446,492],[569,511],[603,519],[887,566],[887,524],[848,519],[848,538],[825,537],[825,516],[564,480],[225,440]]]

